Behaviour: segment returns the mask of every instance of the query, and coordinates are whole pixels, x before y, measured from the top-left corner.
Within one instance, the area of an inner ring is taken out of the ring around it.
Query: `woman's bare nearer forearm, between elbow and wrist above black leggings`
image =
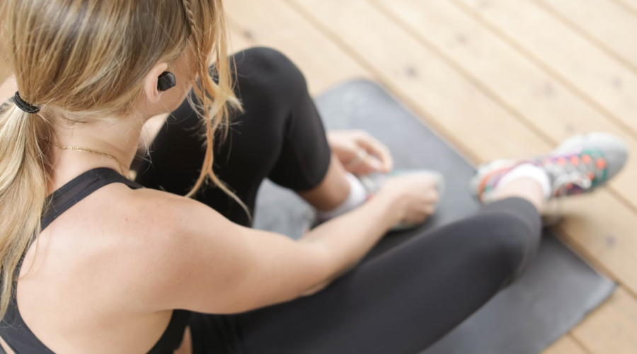
[[[321,290],[357,265],[398,221],[394,201],[379,195],[362,207],[321,224],[306,234],[299,241],[325,249],[329,261],[325,279],[309,287],[303,295]]]

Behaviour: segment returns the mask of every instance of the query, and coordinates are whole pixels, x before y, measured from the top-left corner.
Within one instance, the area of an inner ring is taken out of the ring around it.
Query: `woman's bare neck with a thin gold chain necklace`
[[[52,147],[54,163],[50,192],[81,173],[98,167],[107,167],[129,177],[130,165],[139,147],[143,126],[142,119],[128,117],[114,122],[86,122],[56,127],[54,139],[60,146],[90,149],[103,154]],[[117,162],[104,154],[119,161],[124,171],[121,171]]]

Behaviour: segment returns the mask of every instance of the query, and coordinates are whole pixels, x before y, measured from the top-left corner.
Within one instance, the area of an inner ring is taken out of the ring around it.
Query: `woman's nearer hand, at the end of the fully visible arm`
[[[437,179],[428,173],[410,173],[386,181],[374,198],[389,198],[396,223],[419,224],[432,215],[440,200]]]

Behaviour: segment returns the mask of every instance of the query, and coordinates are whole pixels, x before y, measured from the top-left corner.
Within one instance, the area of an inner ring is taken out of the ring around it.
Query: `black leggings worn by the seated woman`
[[[237,94],[246,112],[234,118],[229,139],[217,147],[215,169],[253,209],[264,178],[292,190],[311,189],[325,176],[331,153],[304,77],[289,59],[265,48],[235,58]],[[195,125],[187,104],[173,113],[140,183],[172,193],[189,190],[203,158]],[[197,200],[248,224],[218,188]],[[540,234],[530,202],[500,200],[363,261],[309,297],[243,314],[195,313],[193,353],[418,353],[515,280]]]

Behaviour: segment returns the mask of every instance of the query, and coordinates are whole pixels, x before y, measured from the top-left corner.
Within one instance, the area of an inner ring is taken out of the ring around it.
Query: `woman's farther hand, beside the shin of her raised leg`
[[[388,173],[394,168],[394,159],[384,144],[362,130],[328,132],[332,152],[345,170],[358,176],[369,173]]]

